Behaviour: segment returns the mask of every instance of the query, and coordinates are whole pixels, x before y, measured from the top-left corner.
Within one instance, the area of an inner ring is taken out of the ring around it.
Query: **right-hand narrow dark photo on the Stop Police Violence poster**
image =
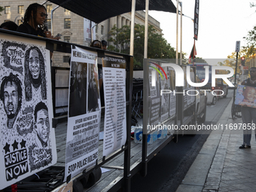
[[[90,65],[90,81],[88,87],[88,111],[99,110],[99,81],[96,65]]]

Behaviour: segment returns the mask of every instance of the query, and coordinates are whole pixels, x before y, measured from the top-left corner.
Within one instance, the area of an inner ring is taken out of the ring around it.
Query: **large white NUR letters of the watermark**
[[[181,66],[178,66],[176,64],[173,63],[162,63],[160,69],[163,71],[162,67],[172,67],[172,69],[174,69],[175,71],[175,84],[176,87],[184,87],[184,71],[181,68]],[[186,79],[187,79],[187,84],[190,84],[190,86],[192,87],[203,87],[205,86],[208,81],[209,81],[209,66],[205,66],[205,80],[201,83],[194,83],[191,81],[190,79],[190,66],[186,66]],[[216,70],[226,70],[226,71],[230,71],[229,74],[216,74]],[[159,72],[159,70],[157,70]],[[160,72],[159,72],[160,73]],[[165,72],[163,71],[163,73],[165,74]],[[215,79],[217,78],[221,78],[223,79],[230,87],[234,87],[234,85],[227,79],[232,77],[234,74],[234,71],[231,67],[229,66],[212,66],[212,87],[215,87]],[[157,72],[156,71],[152,71],[152,87],[155,87],[156,84],[156,77],[157,77]]]

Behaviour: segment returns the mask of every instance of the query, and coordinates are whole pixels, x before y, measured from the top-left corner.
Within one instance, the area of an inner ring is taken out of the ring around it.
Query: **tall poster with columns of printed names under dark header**
[[[126,60],[105,55],[102,58],[105,98],[103,156],[126,142]]]

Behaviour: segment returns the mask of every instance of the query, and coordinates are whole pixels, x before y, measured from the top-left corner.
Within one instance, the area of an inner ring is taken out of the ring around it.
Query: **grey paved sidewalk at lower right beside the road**
[[[218,124],[239,125],[231,118],[232,99]],[[241,130],[212,130],[196,160],[176,192],[256,191],[256,142],[254,130],[251,148],[242,145]]]

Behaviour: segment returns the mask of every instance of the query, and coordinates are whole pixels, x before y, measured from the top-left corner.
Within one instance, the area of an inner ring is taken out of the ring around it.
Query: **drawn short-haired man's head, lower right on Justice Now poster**
[[[35,105],[34,117],[35,143],[38,148],[49,148],[50,123],[48,108],[44,102],[38,102]]]

